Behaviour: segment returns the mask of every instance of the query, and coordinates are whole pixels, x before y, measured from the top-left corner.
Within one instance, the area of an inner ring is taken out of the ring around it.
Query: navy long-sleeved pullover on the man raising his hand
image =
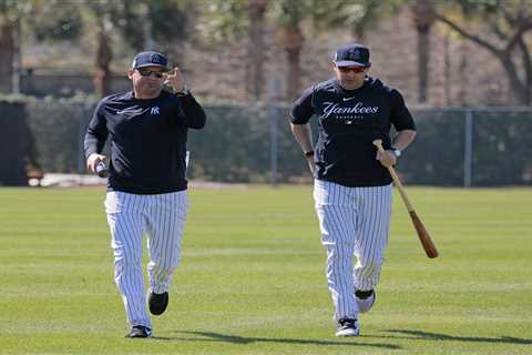
[[[162,91],[135,99],[132,91],[104,98],[86,131],[85,158],[101,153],[109,140],[108,191],[161,194],[186,190],[187,130],[202,129],[206,116],[191,94]]]

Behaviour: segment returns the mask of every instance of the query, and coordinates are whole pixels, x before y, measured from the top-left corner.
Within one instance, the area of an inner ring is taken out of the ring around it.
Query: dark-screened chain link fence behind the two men
[[[27,122],[43,171],[86,173],[83,135],[93,108],[94,103],[88,102],[27,103]],[[190,179],[239,183],[311,180],[289,130],[288,108],[205,105],[205,129],[190,130]],[[418,136],[397,166],[407,184],[532,184],[531,109],[411,111]]]

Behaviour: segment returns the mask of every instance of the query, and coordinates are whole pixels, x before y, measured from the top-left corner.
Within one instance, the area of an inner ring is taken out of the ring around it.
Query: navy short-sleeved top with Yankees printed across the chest
[[[336,78],[308,88],[294,103],[290,121],[306,124],[313,115],[319,130],[315,178],[349,187],[390,184],[372,141],[380,139],[389,149],[391,125],[416,130],[399,91],[371,77],[356,90],[342,89]]]

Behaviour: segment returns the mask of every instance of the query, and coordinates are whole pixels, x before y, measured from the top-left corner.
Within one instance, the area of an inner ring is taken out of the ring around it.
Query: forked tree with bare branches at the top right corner
[[[530,1],[454,0],[443,4],[434,1],[434,17],[438,21],[497,58],[507,73],[518,102],[530,105],[532,103]],[[449,12],[444,11],[449,9],[459,10],[453,13],[459,12],[460,16],[453,18],[447,14]]]

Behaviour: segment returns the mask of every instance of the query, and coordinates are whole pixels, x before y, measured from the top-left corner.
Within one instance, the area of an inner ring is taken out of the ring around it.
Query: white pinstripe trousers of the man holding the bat
[[[379,283],[390,229],[391,191],[391,184],[347,187],[315,180],[315,206],[336,321],[357,318],[355,288],[371,290]]]

